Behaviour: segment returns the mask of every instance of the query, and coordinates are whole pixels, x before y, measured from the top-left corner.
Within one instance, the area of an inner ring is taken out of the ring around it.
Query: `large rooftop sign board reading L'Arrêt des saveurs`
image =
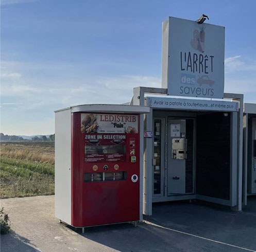
[[[225,27],[169,17],[163,23],[162,87],[168,95],[223,98]]]

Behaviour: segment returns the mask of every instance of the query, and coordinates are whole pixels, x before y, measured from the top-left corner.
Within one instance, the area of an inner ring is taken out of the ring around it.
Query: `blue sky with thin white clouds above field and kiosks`
[[[226,27],[225,92],[256,102],[256,1],[1,1],[1,132],[54,133],[54,110],[161,87],[168,16]]]

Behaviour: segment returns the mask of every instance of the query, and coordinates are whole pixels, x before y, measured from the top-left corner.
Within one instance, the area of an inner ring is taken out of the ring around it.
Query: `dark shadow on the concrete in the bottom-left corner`
[[[1,235],[1,248],[5,250],[1,251],[15,251],[15,252],[38,252],[38,250],[34,244],[32,244],[28,239],[19,236],[18,233],[11,231],[6,235]]]

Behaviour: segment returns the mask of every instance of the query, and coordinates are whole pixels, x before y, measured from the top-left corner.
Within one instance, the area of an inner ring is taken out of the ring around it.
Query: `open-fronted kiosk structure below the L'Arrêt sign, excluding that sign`
[[[131,104],[150,106],[141,116],[145,135],[152,132],[144,138],[144,214],[152,214],[153,202],[192,199],[242,210],[243,95],[225,97],[180,99],[164,88],[133,89]]]

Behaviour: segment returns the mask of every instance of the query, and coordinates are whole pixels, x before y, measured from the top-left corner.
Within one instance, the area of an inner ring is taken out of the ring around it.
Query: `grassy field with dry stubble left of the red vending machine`
[[[54,142],[1,142],[1,198],[54,194]]]

